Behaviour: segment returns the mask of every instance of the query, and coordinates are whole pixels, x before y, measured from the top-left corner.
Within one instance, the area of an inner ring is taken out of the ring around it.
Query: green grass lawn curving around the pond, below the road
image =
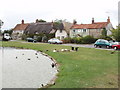
[[[55,85],[50,88],[118,88],[118,51],[79,48],[78,52],[52,52],[53,49],[71,49],[70,46],[3,42],[6,47],[41,50],[60,64]],[[49,50],[49,51],[46,51]]]

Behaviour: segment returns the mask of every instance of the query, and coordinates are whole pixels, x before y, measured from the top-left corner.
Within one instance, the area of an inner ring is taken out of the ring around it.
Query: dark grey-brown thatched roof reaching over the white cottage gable
[[[59,25],[57,29],[64,29],[63,24]],[[34,34],[34,33],[54,33],[56,30],[56,26],[52,22],[38,22],[38,23],[31,23],[27,26],[24,33]]]

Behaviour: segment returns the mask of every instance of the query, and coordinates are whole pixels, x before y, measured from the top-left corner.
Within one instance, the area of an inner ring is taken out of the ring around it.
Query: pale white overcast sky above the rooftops
[[[14,28],[16,24],[35,22],[44,19],[76,19],[79,24],[107,21],[110,16],[114,27],[118,25],[119,0],[1,0],[0,19],[4,22],[2,29]]]

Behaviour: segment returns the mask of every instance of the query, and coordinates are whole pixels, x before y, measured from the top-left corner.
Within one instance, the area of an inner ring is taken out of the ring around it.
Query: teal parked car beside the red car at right
[[[104,39],[98,39],[95,43],[94,43],[94,47],[97,48],[102,48],[102,47],[105,47],[105,48],[111,48],[112,46],[112,43],[113,42],[109,42],[107,40],[104,40]]]

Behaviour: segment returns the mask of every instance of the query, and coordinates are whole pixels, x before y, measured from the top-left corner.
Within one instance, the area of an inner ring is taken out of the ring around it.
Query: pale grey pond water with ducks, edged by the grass
[[[56,67],[51,66],[54,62],[41,52],[15,48],[0,49],[2,88],[40,88],[57,74]]]

